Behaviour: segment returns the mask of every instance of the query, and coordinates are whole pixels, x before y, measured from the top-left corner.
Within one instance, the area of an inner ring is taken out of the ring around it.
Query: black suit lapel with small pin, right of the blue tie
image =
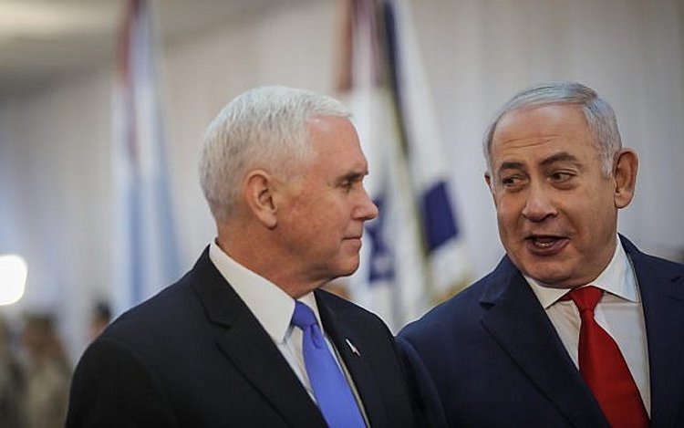
[[[318,312],[328,337],[335,344],[339,356],[351,375],[363,402],[368,423],[374,427],[388,426],[387,412],[382,401],[372,368],[364,357],[364,349],[357,348],[363,341],[351,329],[344,311],[336,311],[327,303],[326,292],[315,291]],[[350,316],[353,316],[350,314]],[[353,349],[352,349],[353,347]],[[356,351],[355,351],[356,350]]]

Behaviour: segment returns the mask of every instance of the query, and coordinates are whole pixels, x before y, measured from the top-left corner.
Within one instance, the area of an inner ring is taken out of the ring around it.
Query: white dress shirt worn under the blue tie
[[[285,360],[292,368],[292,371],[295,372],[299,381],[302,382],[311,399],[316,402],[314,390],[311,388],[311,382],[306,374],[306,366],[304,364],[304,352],[302,350],[304,334],[301,329],[297,329],[290,324],[292,315],[295,313],[295,299],[291,298],[285,291],[268,279],[240,265],[233,258],[225,254],[223,249],[216,245],[215,242],[209,245],[209,258],[225,280],[231,284],[237,295],[244,301],[247,308],[252,311],[254,317],[264,327],[268,335],[271,336],[275,346],[283,354],[283,357],[285,357]],[[321,331],[326,339],[327,347],[347,378],[359,409],[361,409],[364,420],[368,425],[366,412],[359,398],[356,385],[354,385],[354,381],[351,379],[344,361],[339,357],[335,346],[328,339],[326,331],[323,329],[314,293],[308,293],[298,298],[298,300],[313,310],[318,325],[321,326]]]

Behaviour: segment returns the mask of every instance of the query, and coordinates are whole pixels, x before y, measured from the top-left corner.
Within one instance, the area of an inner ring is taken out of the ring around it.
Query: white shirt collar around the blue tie
[[[295,313],[295,299],[268,279],[233,260],[215,242],[209,245],[209,258],[268,335],[276,343],[284,342]],[[307,293],[299,300],[314,311],[320,324],[314,293]]]

